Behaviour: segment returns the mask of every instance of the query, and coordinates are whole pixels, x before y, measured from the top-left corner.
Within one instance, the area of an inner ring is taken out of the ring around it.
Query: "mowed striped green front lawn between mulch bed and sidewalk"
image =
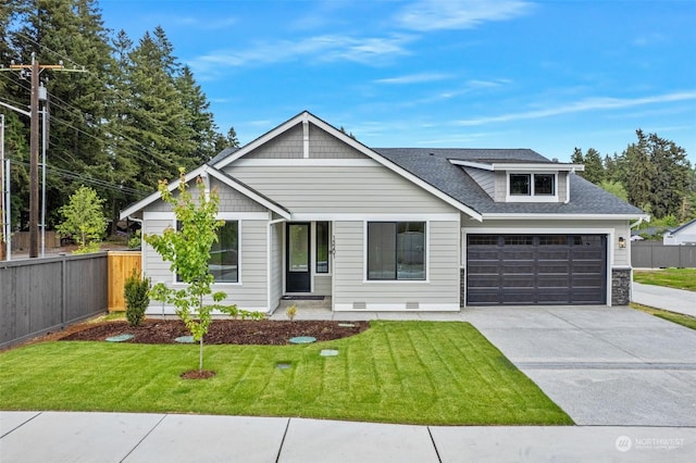
[[[321,356],[322,349],[339,353]],[[216,376],[184,380],[178,375],[198,365],[197,346],[53,341],[9,350],[0,354],[0,409],[572,424],[468,323],[381,321],[331,342],[207,346],[204,355]]]

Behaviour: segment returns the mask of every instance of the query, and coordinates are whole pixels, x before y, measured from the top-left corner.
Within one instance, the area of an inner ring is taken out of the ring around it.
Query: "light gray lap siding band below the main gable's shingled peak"
[[[229,166],[293,213],[438,213],[453,208],[381,165]]]

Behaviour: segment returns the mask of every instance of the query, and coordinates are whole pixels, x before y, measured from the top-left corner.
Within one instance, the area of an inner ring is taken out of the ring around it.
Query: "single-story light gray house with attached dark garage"
[[[370,148],[302,112],[185,180],[220,192],[214,290],[243,309],[287,296],[334,311],[626,304],[630,224],[647,216],[582,168],[529,149]],[[175,226],[159,192],[121,217]],[[149,246],[142,270],[179,285]]]

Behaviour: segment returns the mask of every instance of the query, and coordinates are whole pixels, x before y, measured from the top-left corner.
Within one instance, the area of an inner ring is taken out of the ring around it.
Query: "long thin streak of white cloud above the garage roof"
[[[519,113],[501,114],[490,117],[478,117],[471,120],[458,121],[458,125],[473,126],[490,123],[524,121],[533,118],[550,117],[560,114],[571,114],[585,111],[599,110],[617,110],[622,108],[641,107],[645,104],[668,103],[673,101],[696,100],[696,91],[684,91],[667,95],[658,95],[654,97],[621,99],[621,98],[588,98],[573,103],[556,108],[546,108],[542,110],[525,111]]]

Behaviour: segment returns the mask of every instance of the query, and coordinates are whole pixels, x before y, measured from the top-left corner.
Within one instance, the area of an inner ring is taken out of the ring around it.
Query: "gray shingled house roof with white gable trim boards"
[[[638,208],[572,174],[569,202],[495,202],[463,168],[463,165],[473,163],[487,165],[490,167],[487,170],[495,170],[495,164],[506,167],[520,165],[520,168],[525,165],[530,168],[548,165],[546,170],[558,167],[558,171],[569,172],[575,167],[581,170],[576,164],[549,161],[531,149],[369,148],[308,111],[297,114],[241,148],[224,149],[207,164],[187,174],[186,182],[208,172],[233,189],[289,220],[289,210],[221,170],[298,124],[309,123],[480,222],[484,218],[506,217],[649,220]],[[308,148],[308,145],[306,147]],[[177,185],[178,180],[172,183],[170,188],[174,189]],[[125,209],[121,217],[141,210],[159,198],[159,191],[150,195]]]

